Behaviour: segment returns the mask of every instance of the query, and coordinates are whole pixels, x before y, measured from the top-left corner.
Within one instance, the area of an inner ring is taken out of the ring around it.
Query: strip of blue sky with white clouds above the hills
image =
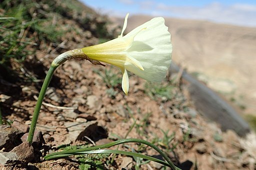
[[[80,0],[102,14],[209,20],[256,27],[256,0]]]

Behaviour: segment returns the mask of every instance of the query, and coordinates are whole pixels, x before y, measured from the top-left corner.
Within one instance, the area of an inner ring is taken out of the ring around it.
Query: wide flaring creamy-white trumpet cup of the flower
[[[144,31],[140,31],[145,27]],[[164,25],[164,19],[153,18],[136,27],[123,38],[135,33],[137,34],[133,38],[132,45],[127,49],[127,53],[140,62],[144,71],[129,63],[125,63],[125,68],[145,80],[161,81],[170,66],[172,52],[170,33],[168,27]]]

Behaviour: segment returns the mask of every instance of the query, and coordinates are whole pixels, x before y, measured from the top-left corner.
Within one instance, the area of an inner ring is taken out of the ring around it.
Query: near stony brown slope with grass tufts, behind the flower
[[[0,17],[4,17],[0,20],[1,169],[169,169],[125,155],[43,159],[59,150],[125,138],[155,144],[182,170],[255,169],[255,136],[241,139],[231,130],[222,132],[201,116],[177,74],[161,84],[130,74],[126,96],[120,70],[84,60],[67,61],[55,71],[40,110],[36,138],[28,146],[25,141],[36,96],[51,61],[67,50],[117,37],[119,28],[77,0],[5,0],[0,6]],[[155,150],[137,143],[120,145],[119,150],[162,159]]]

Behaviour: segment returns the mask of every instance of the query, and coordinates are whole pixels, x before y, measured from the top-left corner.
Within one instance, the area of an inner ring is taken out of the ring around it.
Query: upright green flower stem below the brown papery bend
[[[29,129],[29,133],[28,133],[28,137],[27,137],[27,141],[29,142],[29,144],[32,144],[34,131],[35,131],[35,126],[36,126],[37,119],[38,119],[38,116],[39,116],[40,108],[42,106],[42,100],[43,100],[44,95],[46,93],[47,87],[50,83],[53,72],[55,71],[56,68],[57,68],[57,66],[55,66],[55,67],[50,66],[50,68],[48,70],[48,73],[46,74],[46,77],[43,81],[43,84],[42,84],[42,87],[41,87],[41,90],[40,90],[40,93],[39,93],[39,96],[38,96],[38,99],[37,99],[37,102],[36,102],[36,105],[35,105],[35,108],[34,108],[34,114],[33,114],[33,117],[32,117],[32,121],[31,121],[31,124],[30,124],[30,129]]]

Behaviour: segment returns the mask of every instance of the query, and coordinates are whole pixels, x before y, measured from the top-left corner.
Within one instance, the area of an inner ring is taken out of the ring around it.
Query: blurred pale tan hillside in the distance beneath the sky
[[[127,31],[150,16],[130,16]],[[121,24],[122,19],[114,18]],[[243,113],[256,115],[256,29],[207,21],[165,18],[174,62],[219,92]]]

